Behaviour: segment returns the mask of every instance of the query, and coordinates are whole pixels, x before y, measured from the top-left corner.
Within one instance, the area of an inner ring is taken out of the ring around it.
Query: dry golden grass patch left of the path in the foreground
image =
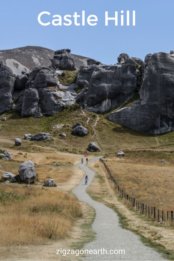
[[[67,237],[80,204],[60,191],[0,185],[1,245],[42,244]]]

